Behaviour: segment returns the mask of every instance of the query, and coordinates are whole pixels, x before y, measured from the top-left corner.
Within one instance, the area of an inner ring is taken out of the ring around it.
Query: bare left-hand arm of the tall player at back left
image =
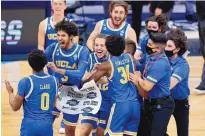
[[[38,49],[39,50],[44,50],[44,46],[45,46],[45,23],[46,20],[41,21],[38,28]]]

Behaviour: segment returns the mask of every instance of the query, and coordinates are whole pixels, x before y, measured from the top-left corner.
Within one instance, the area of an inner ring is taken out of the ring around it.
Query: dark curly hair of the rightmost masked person
[[[187,51],[187,36],[179,28],[170,29],[167,33],[167,39],[172,40],[176,46],[179,48],[178,55],[182,56]]]

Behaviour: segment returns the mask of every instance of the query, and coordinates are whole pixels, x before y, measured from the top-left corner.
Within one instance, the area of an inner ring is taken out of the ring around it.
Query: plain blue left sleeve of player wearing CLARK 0
[[[23,78],[18,83],[18,91],[17,94],[25,97],[31,88],[31,83],[28,78]]]

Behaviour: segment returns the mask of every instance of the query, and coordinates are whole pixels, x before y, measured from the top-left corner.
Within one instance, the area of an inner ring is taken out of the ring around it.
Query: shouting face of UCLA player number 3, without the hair
[[[62,49],[66,49],[72,41],[72,36],[69,36],[66,32],[61,30],[57,32],[57,38]]]

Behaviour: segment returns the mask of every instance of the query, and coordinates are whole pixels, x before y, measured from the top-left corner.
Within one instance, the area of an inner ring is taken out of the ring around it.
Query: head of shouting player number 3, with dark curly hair
[[[70,21],[61,21],[56,24],[55,30],[61,48],[66,49],[72,43],[73,37],[78,35],[78,27]]]

